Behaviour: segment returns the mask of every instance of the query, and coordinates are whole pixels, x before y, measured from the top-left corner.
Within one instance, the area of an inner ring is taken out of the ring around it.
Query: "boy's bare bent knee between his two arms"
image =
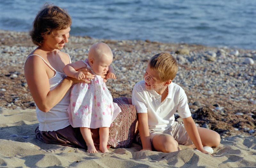
[[[169,134],[157,134],[152,139],[152,145],[159,152],[175,152],[178,151],[178,142]]]

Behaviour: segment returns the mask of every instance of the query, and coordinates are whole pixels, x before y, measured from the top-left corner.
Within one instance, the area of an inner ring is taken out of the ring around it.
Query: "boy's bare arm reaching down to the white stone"
[[[204,150],[203,148],[203,144],[202,141],[200,139],[196,124],[193,120],[193,118],[190,116],[188,118],[183,118],[183,123],[184,123],[184,127],[188,132],[188,135],[190,137],[190,139],[193,141],[193,143],[196,146],[197,150],[200,150],[203,153],[208,153],[206,150]]]

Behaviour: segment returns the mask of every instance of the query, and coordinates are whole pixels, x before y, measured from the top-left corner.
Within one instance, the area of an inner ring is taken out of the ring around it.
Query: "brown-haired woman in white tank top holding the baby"
[[[70,26],[71,17],[58,6],[47,5],[39,11],[30,32],[38,47],[28,55],[24,72],[39,121],[36,138],[45,143],[86,148],[79,128],[71,127],[68,122],[67,108],[72,84],[90,83],[89,79],[94,77],[84,68],[81,70],[86,80],[78,81],[67,77],[62,70],[71,63],[69,55],[60,51],[68,42]],[[92,137],[98,138],[98,130],[93,131]]]

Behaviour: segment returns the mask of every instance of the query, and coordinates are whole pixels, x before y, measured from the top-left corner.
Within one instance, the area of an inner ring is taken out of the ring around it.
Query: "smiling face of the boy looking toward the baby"
[[[147,66],[146,72],[144,74],[144,81],[145,88],[147,90],[154,90],[159,94],[163,89],[165,89],[166,82],[162,82],[158,72],[154,69],[151,69],[149,65]]]

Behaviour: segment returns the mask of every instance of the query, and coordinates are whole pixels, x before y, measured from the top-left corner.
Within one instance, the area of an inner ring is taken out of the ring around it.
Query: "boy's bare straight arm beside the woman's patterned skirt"
[[[148,113],[137,113],[137,117],[142,150],[152,150],[148,129]]]

